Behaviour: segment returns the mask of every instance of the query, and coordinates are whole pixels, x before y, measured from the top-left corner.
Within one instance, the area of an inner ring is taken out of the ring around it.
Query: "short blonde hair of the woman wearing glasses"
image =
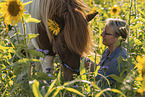
[[[127,29],[126,29],[126,21],[121,19],[112,19],[109,18],[106,20],[106,25],[112,27],[114,36],[121,36],[123,40],[127,38]]]

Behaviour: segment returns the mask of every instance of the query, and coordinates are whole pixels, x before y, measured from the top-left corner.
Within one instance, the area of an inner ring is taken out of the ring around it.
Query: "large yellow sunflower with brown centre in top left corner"
[[[22,22],[25,6],[20,0],[4,0],[0,6],[0,13],[2,13],[5,23],[17,25],[17,23]]]

